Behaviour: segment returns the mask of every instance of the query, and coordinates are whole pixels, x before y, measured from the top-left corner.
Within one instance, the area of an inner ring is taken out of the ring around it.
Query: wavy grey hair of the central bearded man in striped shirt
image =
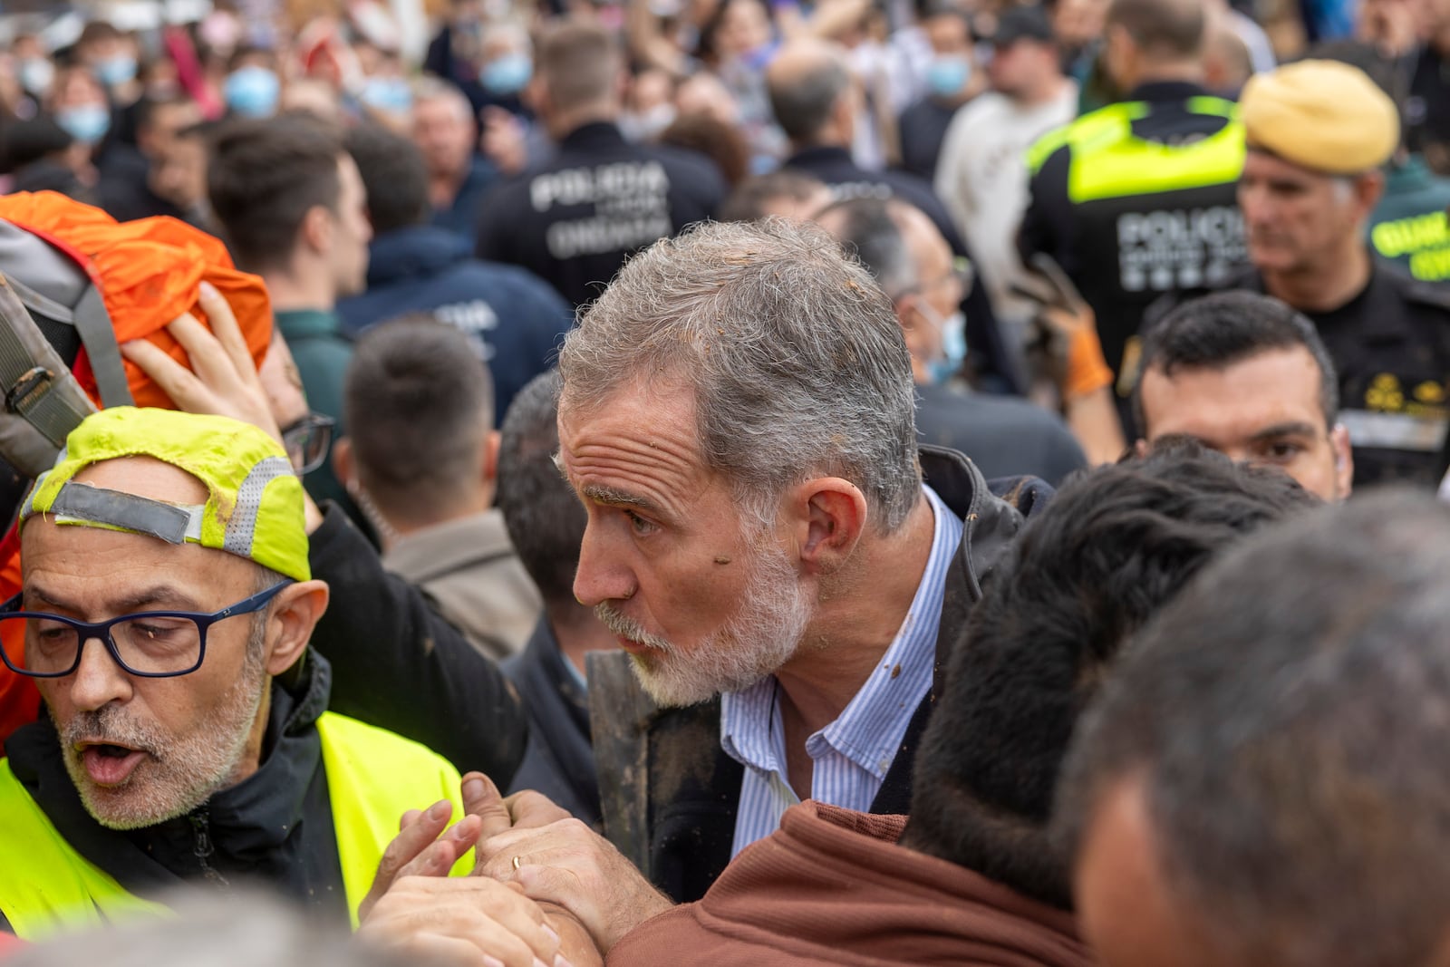
[[[861,489],[879,534],[921,494],[892,302],[813,225],[705,223],[657,242],[583,315],[558,365],[566,412],[631,381],[693,387],[706,465],[760,525],[786,487],[822,474]]]

